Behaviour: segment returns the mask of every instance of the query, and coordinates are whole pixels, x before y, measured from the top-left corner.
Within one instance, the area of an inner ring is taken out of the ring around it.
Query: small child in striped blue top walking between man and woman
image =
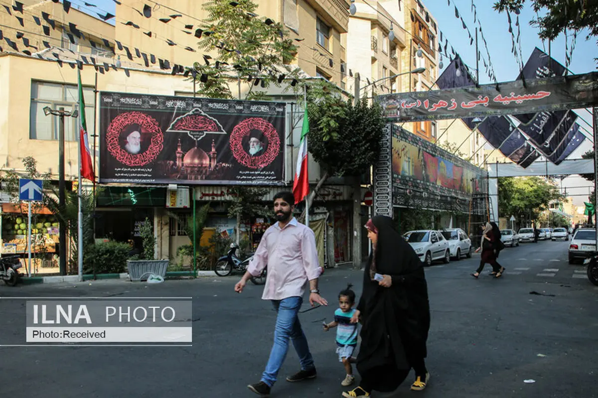
[[[355,362],[352,354],[357,345],[358,323],[351,323],[351,317],[355,313],[355,292],[351,290],[353,285],[350,283],[347,288],[338,294],[338,307],[334,311],[334,321],[324,323],[324,330],[328,331],[335,326],[338,326],[336,343],[338,361],[343,362],[344,369],[347,371],[347,376],[341,382],[341,385],[347,386],[353,384],[355,377],[353,376],[353,368],[351,363]]]

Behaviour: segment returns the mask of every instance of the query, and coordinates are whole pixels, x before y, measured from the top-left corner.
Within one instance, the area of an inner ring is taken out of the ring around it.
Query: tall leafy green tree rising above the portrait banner
[[[199,48],[215,53],[194,63],[197,91],[209,98],[239,98],[241,85],[246,85],[246,100],[268,99],[264,91],[271,86],[281,87],[284,75],[297,78],[298,69],[288,64],[297,53],[297,45],[289,38],[282,23],[259,18],[258,5],[252,0],[212,0],[203,4],[208,16],[201,29]],[[237,82],[235,94],[230,84]]]

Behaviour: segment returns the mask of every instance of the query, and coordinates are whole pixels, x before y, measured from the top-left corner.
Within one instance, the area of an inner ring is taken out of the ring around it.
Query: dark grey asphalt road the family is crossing
[[[432,324],[431,380],[409,390],[412,375],[392,394],[373,397],[598,396],[598,287],[567,263],[567,242],[526,243],[499,257],[507,268],[493,279],[469,274],[479,256],[426,268]],[[0,347],[1,396],[253,397],[266,363],[275,313],[261,286],[234,293],[234,277],[167,280],[148,285],[122,280],[59,285],[0,286],[0,343],[25,342],[25,300],[6,297],[193,297],[193,347]],[[347,282],[359,296],[361,271],[337,268],[322,276],[330,302],[301,314],[318,378],[291,384],[298,370],[291,348],[271,396],[340,397],[344,369],[335,354],[331,320]],[[530,294],[537,292],[540,295]],[[309,304],[304,304],[307,308]],[[535,382],[526,383],[524,380]]]

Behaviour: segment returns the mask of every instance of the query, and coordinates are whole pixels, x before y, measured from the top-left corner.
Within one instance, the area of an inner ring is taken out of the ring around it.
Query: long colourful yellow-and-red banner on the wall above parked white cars
[[[399,193],[393,199],[402,202],[402,193],[468,200],[474,193],[485,192],[485,175],[486,172],[471,163],[393,125],[392,182]]]

